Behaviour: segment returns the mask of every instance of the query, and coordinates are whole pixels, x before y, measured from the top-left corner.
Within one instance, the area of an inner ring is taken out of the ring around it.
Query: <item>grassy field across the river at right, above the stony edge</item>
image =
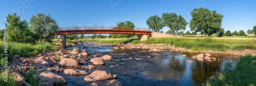
[[[201,38],[201,37],[169,37],[169,38],[148,38],[146,41],[139,41],[137,39],[87,39],[86,41],[95,41],[100,43],[125,43],[132,42],[133,44],[139,44],[145,42],[145,44],[167,44],[174,45],[175,47],[191,49],[191,50],[217,50],[226,51],[230,50],[244,50],[253,49],[256,50],[256,38]]]

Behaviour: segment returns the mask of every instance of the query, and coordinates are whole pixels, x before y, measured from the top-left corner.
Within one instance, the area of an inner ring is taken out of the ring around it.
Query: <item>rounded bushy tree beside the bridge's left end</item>
[[[34,37],[40,41],[52,42],[55,32],[57,32],[59,26],[56,21],[52,19],[50,15],[37,13],[33,15],[29,20],[30,29],[36,34]]]

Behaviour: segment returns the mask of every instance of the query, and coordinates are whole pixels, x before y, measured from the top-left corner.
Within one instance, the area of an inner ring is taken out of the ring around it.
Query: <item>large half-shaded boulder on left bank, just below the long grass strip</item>
[[[48,60],[46,60],[45,58],[42,58],[42,57],[36,58],[34,60],[34,63],[36,63],[36,65],[39,68],[49,68],[49,67],[54,65],[52,62],[50,62],[50,61],[48,61]]]

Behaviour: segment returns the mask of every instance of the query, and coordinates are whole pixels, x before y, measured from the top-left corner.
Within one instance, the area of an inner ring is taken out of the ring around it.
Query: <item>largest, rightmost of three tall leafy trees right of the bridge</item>
[[[191,12],[192,19],[190,20],[190,30],[201,32],[204,37],[206,34],[217,33],[221,29],[223,15],[218,14],[215,10],[199,8]]]

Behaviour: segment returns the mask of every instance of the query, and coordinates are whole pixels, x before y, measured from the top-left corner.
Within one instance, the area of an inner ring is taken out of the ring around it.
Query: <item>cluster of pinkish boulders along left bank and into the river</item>
[[[96,47],[96,46],[95,46]],[[74,69],[63,69],[62,67],[75,67],[83,68],[85,70],[92,70],[101,65],[104,65],[105,61],[111,61],[112,57],[110,55],[104,55],[98,57],[98,55],[88,56],[88,53],[85,50],[80,50],[74,48],[72,51],[67,49],[59,49],[49,52],[41,52],[36,56],[31,57],[20,57],[19,55],[14,55],[14,61],[11,63],[10,67],[13,69],[13,75],[16,85],[30,85],[26,82],[24,77],[30,67],[34,67],[36,73],[38,73],[39,83],[41,85],[54,85],[56,82],[63,81],[67,83],[67,80],[62,76],[59,76],[52,71],[63,72],[67,75],[87,75],[84,77],[85,81],[94,81],[92,85],[122,85],[121,82],[116,80],[117,75],[110,74],[105,71],[96,70],[90,74],[84,70],[74,70]],[[56,60],[59,58],[59,60]],[[93,65],[84,66],[88,61],[92,62]],[[19,71],[17,71],[19,70]],[[90,74],[90,75],[89,75]]]

